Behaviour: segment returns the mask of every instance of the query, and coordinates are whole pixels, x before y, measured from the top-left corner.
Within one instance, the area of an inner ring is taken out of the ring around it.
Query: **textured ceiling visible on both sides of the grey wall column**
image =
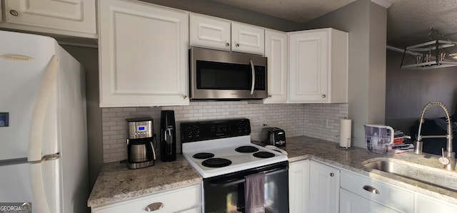
[[[211,0],[256,11],[260,14],[306,24],[356,0]],[[441,35],[457,41],[456,0],[389,0],[387,45],[396,48],[430,40],[432,27]],[[433,39],[439,36],[433,33]]]

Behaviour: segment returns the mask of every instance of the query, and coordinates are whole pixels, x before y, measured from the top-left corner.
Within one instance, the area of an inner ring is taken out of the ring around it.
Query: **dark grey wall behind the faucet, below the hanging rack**
[[[457,113],[457,67],[401,69],[402,57],[403,53],[387,51],[386,125],[409,134],[409,128],[431,101],[444,103],[451,115]],[[443,110],[438,107],[426,112],[426,118],[442,116]]]

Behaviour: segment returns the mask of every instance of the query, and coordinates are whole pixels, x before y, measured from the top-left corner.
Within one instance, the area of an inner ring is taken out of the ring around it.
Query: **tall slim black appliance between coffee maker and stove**
[[[162,110],[160,119],[160,158],[164,162],[176,160],[176,124],[174,110]]]

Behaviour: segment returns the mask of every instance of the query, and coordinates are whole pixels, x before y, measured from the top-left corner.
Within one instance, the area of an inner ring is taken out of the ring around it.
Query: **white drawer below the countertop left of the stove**
[[[94,207],[92,212],[94,213],[136,213],[145,212],[144,209],[149,204],[161,202],[163,207],[154,212],[165,213],[165,212],[179,212],[187,209],[184,212],[189,212],[190,209],[200,209],[201,205],[201,188],[200,185],[194,185],[191,187],[184,187],[179,189],[172,189],[170,191],[161,192],[158,194],[146,195],[135,199],[129,199],[126,201],[116,202],[114,204],[106,204],[100,207]],[[192,211],[190,211],[192,212]]]

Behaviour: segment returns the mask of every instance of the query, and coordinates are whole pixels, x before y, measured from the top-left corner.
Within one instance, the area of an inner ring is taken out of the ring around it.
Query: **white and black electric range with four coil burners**
[[[287,155],[251,143],[248,119],[181,123],[183,155],[204,177],[204,212],[246,212],[247,177],[265,175],[265,212],[288,212]]]

